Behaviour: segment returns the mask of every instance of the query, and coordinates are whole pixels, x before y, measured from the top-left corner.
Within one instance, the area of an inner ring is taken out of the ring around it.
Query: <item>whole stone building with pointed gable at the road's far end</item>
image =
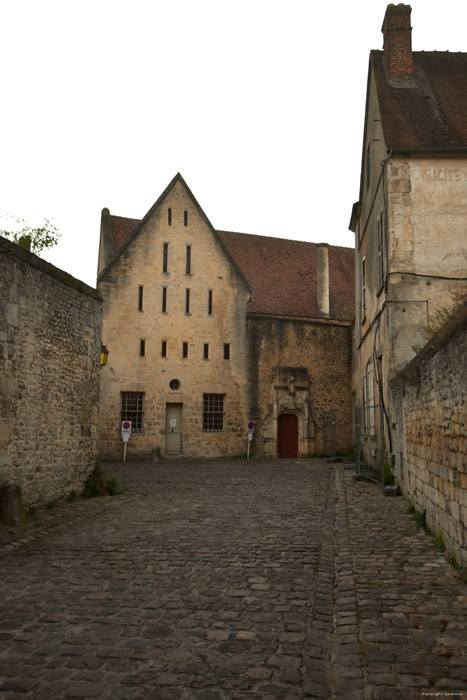
[[[102,212],[100,453],[308,456],[351,445],[353,249],[217,231],[177,175],[140,221]]]

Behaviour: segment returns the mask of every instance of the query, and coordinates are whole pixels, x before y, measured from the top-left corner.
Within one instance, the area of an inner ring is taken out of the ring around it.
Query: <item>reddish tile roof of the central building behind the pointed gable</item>
[[[110,216],[117,253],[138,219]],[[323,318],[318,311],[316,243],[218,231],[251,287],[250,313]],[[354,310],[354,249],[329,246],[330,318],[350,320]]]

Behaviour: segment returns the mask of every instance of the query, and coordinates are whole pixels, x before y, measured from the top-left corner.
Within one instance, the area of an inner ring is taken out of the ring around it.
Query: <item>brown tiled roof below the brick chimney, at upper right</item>
[[[414,51],[414,87],[390,87],[384,52],[372,51],[387,148],[467,147],[467,53]]]

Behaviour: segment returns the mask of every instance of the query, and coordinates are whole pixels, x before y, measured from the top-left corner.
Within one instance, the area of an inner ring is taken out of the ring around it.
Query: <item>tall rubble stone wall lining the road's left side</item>
[[[101,299],[4,238],[0,267],[0,482],[44,504],[96,458]]]

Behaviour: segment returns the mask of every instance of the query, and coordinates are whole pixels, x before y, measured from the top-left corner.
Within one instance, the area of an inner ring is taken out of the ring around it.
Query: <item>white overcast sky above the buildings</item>
[[[0,0],[0,215],[62,232],[95,286],[100,212],[177,172],[217,229],[353,245],[381,0]],[[414,50],[466,51],[465,0],[413,0]]]

